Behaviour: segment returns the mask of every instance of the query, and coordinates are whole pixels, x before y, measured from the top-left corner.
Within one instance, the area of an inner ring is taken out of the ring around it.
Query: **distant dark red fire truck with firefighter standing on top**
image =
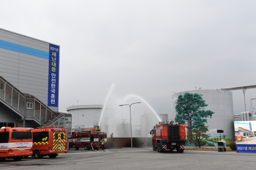
[[[104,139],[107,146],[107,133],[106,132],[72,132],[72,138],[69,138],[69,148],[90,148],[98,150],[101,147],[100,140]]]

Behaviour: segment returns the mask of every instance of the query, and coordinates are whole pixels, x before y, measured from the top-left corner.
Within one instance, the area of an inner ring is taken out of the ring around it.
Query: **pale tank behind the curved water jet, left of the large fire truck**
[[[158,114],[161,121],[168,121],[167,114]],[[140,136],[141,137],[151,137],[150,130],[154,127],[154,125],[158,124],[159,121],[156,118],[156,115],[152,113],[144,112],[143,115],[140,115]]]

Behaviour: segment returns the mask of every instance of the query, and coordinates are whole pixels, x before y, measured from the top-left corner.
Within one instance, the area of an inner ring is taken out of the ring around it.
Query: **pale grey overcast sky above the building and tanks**
[[[172,114],[172,91],[256,84],[255,9],[250,0],[6,0],[0,28],[60,45],[59,111],[103,105],[115,83],[114,96]],[[232,93],[240,114],[242,90]],[[251,97],[256,89],[248,108]]]

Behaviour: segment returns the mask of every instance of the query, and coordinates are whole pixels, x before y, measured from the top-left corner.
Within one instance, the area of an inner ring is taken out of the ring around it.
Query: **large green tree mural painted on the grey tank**
[[[203,95],[197,93],[185,93],[179,95],[176,102],[176,117],[175,121],[184,124],[187,128],[187,134],[190,134],[193,129],[200,127],[206,127],[208,131],[207,123],[208,117],[212,118],[214,112],[210,110],[204,110],[206,106],[205,100],[202,98]],[[194,146],[192,138],[187,137],[186,145]]]

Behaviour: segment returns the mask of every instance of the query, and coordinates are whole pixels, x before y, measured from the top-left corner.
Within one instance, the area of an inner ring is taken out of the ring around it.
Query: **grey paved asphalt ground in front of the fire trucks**
[[[121,148],[105,151],[74,150],[56,158],[31,156],[21,161],[6,159],[0,170],[239,170],[255,169],[255,154],[216,151],[166,151],[152,148]]]

